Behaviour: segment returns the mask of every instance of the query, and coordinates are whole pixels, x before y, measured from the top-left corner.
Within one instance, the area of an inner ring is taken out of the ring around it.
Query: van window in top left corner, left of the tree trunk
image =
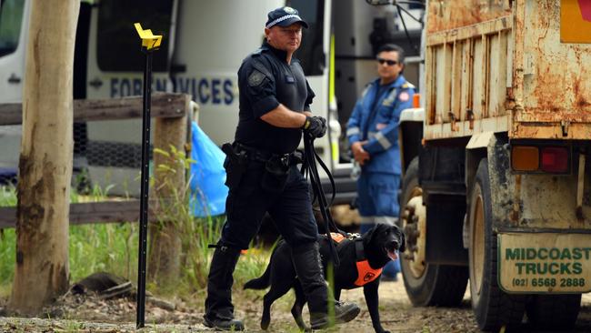
[[[0,0],[0,56],[16,50],[24,8],[25,0]]]

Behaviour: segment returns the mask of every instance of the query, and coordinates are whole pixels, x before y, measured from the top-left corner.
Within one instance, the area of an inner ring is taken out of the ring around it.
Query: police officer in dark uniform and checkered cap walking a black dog
[[[227,219],[207,280],[204,318],[210,328],[244,329],[234,318],[232,274],[240,250],[255,237],[265,212],[291,247],[312,328],[329,325],[329,306],[334,305],[336,323],[356,318],[360,310],[355,304],[329,301],[308,184],[295,166],[302,132],[326,134],[326,119],[310,112],[314,92],[293,57],[307,26],[291,7],[271,11],[264,44],[238,70],[239,121],[234,144],[224,146]]]

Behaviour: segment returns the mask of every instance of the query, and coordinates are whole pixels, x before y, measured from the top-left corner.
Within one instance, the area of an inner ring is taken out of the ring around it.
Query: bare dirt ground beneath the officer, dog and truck
[[[265,292],[256,291],[254,293],[255,295],[250,294],[248,297],[244,297],[240,293],[235,295],[236,317],[245,319],[247,332],[262,332],[258,323],[262,308],[261,298]],[[292,299],[291,296],[285,296],[275,302],[272,308],[272,322],[269,332],[298,331],[289,313]],[[362,311],[352,322],[333,328],[330,331],[346,333],[372,332],[371,319],[363,298],[363,289],[344,290],[341,299],[357,302]],[[195,304],[201,303],[198,299],[195,301]],[[171,310],[162,304],[147,303],[146,328],[143,330],[147,332],[211,331],[202,324],[202,307],[194,308],[188,307],[182,302],[175,302],[174,300],[172,302],[176,305],[175,310]],[[66,303],[62,308],[53,308],[47,312],[49,317],[61,319],[0,318],[0,331],[103,333],[135,331],[134,301],[127,299],[104,301],[72,298]],[[380,285],[380,314],[384,328],[391,332],[478,331],[467,293],[459,308],[414,308],[406,297],[402,281],[384,282]],[[307,315],[305,318],[307,318]],[[518,331],[528,332],[534,330],[524,324]],[[591,332],[591,294],[583,296],[581,312],[574,331]]]

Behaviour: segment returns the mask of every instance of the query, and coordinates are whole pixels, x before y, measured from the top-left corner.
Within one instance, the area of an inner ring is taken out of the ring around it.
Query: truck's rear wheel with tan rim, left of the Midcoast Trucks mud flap
[[[486,158],[478,165],[469,196],[470,295],[478,328],[498,330],[519,324],[524,316],[526,296],[506,294],[497,283],[496,234]]]

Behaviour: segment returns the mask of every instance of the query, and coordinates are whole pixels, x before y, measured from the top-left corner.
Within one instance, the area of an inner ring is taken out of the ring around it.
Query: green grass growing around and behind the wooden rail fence
[[[105,200],[104,192],[94,190],[90,197],[78,196],[72,192],[71,201]],[[84,199],[84,200],[83,200]],[[180,205],[180,204],[178,204]],[[0,207],[15,207],[14,187],[0,187]],[[191,217],[183,209],[181,239],[183,253],[179,284],[173,288],[157,288],[148,284],[155,294],[165,293],[187,299],[203,299],[209,263],[214,253],[209,244],[215,244],[220,237],[225,217]],[[69,264],[70,283],[88,275],[105,271],[131,280],[137,280],[138,253],[137,223],[90,224],[70,227]],[[149,242],[148,242],[149,244]],[[148,249],[149,253],[149,249]],[[263,274],[270,251],[251,248],[243,255],[235,269],[235,286]],[[149,267],[148,267],[149,269]],[[0,230],[0,296],[7,296],[12,288],[15,271],[15,229]],[[200,300],[200,301],[201,301]]]

